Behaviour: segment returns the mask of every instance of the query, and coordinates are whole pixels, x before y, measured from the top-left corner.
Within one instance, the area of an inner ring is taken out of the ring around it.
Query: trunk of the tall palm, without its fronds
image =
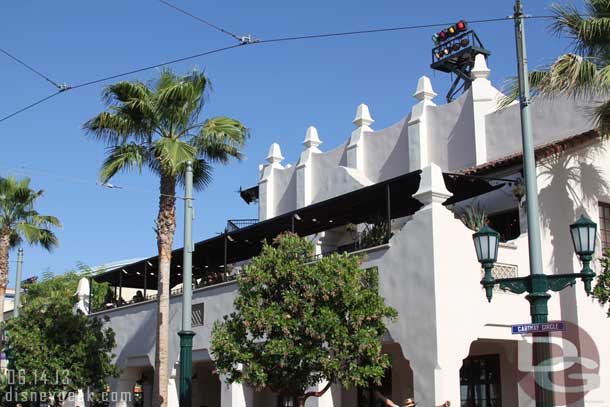
[[[176,177],[161,175],[161,195],[157,216],[157,248],[159,250],[158,270],[158,312],[157,347],[155,352],[155,391],[153,407],[167,407],[167,385],[169,382],[169,292],[172,244],[176,230]]]

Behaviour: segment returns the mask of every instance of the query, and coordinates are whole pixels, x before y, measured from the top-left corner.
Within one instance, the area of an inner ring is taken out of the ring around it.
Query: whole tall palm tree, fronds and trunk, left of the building
[[[120,171],[143,167],[160,178],[156,221],[158,273],[157,346],[153,406],[167,406],[169,282],[176,230],[176,184],[184,181],[187,161],[193,162],[193,184],[201,189],[212,179],[212,164],[241,159],[248,130],[237,120],[215,117],[199,121],[208,78],[199,71],[177,76],[161,71],[149,84],[118,82],[103,92],[107,110],[83,125],[88,134],[108,146],[100,170],[102,182]]]

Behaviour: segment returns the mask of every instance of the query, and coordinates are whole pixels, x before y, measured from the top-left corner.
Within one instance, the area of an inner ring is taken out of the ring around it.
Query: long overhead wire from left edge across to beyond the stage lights
[[[526,16],[525,18],[528,19],[547,19],[547,18],[552,18],[553,16]],[[499,18],[488,18],[488,19],[479,19],[479,20],[468,20],[469,24],[480,24],[480,23],[490,23],[490,22],[499,22],[499,21],[507,21],[507,20],[511,20],[513,17],[512,16],[507,16],[507,17],[499,17]],[[395,32],[395,31],[406,31],[406,30],[416,30],[416,29],[422,29],[422,28],[435,28],[435,27],[445,27],[447,25],[450,25],[452,23],[432,23],[432,24],[419,24],[419,25],[411,25],[411,26],[402,26],[402,27],[389,27],[389,28],[378,28],[378,29],[370,29],[370,30],[359,30],[359,31],[345,31],[345,32],[336,32],[336,33],[323,33],[323,34],[310,34],[310,35],[302,35],[302,36],[290,36],[290,37],[277,37],[277,38],[270,38],[270,39],[252,39],[251,37],[239,37],[240,39],[240,43],[239,44],[234,44],[234,45],[229,45],[229,46],[225,46],[225,47],[221,47],[221,48],[216,48],[210,51],[205,51],[205,52],[201,52],[198,54],[194,54],[194,55],[189,55],[187,57],[183,57],[183,58],[177,58],[177,59],[173,59],[173,60],[169,60],[169,61],[164,61],[158,64],[154,64],[154,65],[149,65],[143,68],[138,68],[138,69],[134,69],[131,71],[127,71],[127,72],[122,72],[122,73],[118,73],[118,74],[114,74],[114,75],[110,75],[110,76],[105,76],[102,78],[98,78],[98,79],[94,79],[91,81],[87,81],[87,82],[82,82],[79,84],[76,84],[74,86],[67,86],[67,85],[60,85],[60,90],[54,94],[51,94],[49,96],[46,96],[40,100],[37,100],[34,103],[31,103],[19,110],[17,110],[16,112],[13,112],[7,116],[4,116],[2,118],[0,118],[0,123],[8,120],[28,109],[31,109],[43,102],[46,102],[49,99],[54,98],[55,96],[59,95],[62,92],[66,92],[66,91],[70,91],[70,90],[74,90],[74,89],[78,89],[78,88],[83,88],[86,86],[90,86],[90,85],[94,85],[97,83],[101,83],[101,82],[105,82],[108,80],[112,80],[112,79],[117,79],[120,77],[124,77],[124,76],[128,76],[128,75],[133,75],[135,73],[139,73],[139,72],[143,72],[143,71],[147,71],[150,69],[155,69],[155,68],[160,68],[162,66],[166,66],[166,65],[171,65],[171,64],[175,64],[178,62],[184,62],[187,60],[191,60],[191,59],[195,59],[195,58],[200,58],[203,56],[207,56],[207,55],[212,55],[212,54],[217,54],[220,52],[224,52],[224,51],[228,51],[231,50],[233,48],[239,48],[245,45],[255,45],[255,44],[266,44],[266,43],[275,43],[275,42],[288,42],[288,41],[300,41],[300,40],[309,40],[309,39],[318,39],[318,38],[331,38],[331,37],[343,37],[343,36],[352,36],[352,35],[364,35],[364,34],[374,34],[374,33],[383,33],[383,32]],[[226,30],[225,30],[226,31]],[[229,34],[232,34],[229,32]],[[246,40],[243,40],[243,39]]]

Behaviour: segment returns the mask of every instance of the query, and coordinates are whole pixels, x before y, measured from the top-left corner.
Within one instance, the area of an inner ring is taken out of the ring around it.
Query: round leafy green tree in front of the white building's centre
[[[397,315],[378,294],[376,270],[347,254],[311,262],[312,253],[294,234],[265,244],[238,278],[235,311],[212,332],[216,369],[229,382],[268,387],[299,406],[331,383],[379,383],[390,366],[380,337]]]

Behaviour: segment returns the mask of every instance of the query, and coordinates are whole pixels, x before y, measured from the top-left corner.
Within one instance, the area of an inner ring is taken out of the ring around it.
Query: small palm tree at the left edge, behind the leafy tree
[[[0,322],[4,320],[10,250],[24,241],[49,251],[58,244],[52,229],[61,227],[61,223],[56,217],[41,215],[35,209],[36,200],[43,193],[30,188],[29,178],[0,178]]]

